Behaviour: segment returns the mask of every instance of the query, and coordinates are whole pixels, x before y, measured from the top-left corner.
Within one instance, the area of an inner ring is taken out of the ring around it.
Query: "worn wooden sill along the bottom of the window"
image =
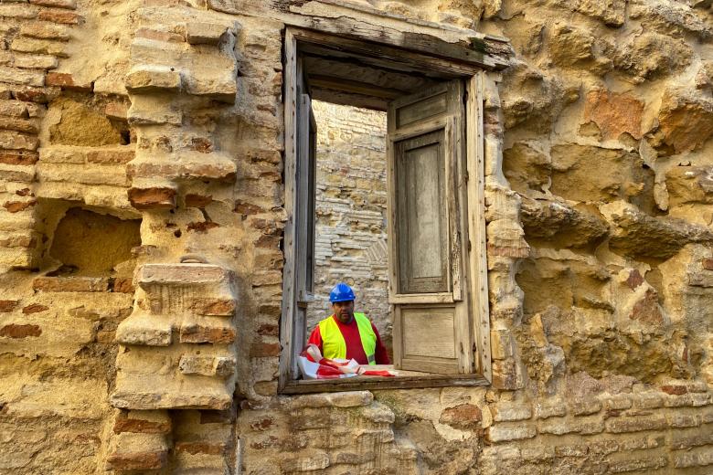
[[[391,365],[378,365],[371,369],[393,369]],[[483,375],[434,375],[417,371],[397,370],[399,375],[355,376],[342,379],[299,379],[288,381],[282,388],[284,395],[309,393],[334,393],[337,391],[363,391],[378,389],[410,389],[419,387],[481,386],[490,385]]]

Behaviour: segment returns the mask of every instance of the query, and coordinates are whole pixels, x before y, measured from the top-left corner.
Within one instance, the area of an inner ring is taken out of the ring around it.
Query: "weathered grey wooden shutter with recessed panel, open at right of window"
[[[400,369],[474,372],[463,131],[459,80],[389,104],[389,301]]]

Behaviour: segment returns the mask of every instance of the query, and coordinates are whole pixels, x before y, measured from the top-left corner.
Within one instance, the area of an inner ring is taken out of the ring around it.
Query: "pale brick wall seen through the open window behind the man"
[[[386,112],[313,100],[317,122],[314,301],[307,336],[331,315],[329,291],[344,281],[356,311],[377,326],[391,358],[388,305]]]

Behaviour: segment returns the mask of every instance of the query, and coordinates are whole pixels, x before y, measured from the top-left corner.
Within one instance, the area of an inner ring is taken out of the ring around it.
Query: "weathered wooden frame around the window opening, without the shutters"
[[[385,58],[408,60],[423,69],[451,74],[463,79],[465,100],[465,168],[467,181],[467,221],[468,256],[464,263],[468,266],[468,286],[473,295],[474,342],[476,342],[476,373],[471,375],[400,375],[391,378],[353,377],[338,380],[298,380],[294,374],[297,349],[293,347],[295,322],[295,272],[294,237],[297,223],[294,210],[297,205],[295,195],[297,141],[297,92],[296,69],[298,44],[311,43],[325,47],[352,48],[352,51],[374,51],[375,46],[367,40],[337,37],[300,27],[287,26],[284,33],[284,195],[287,220],[284,229],[284,268],[282,282],[282,315],[280,322],[280,354],[278,392],[280,394],[303,394],[329,391],[364,389],[391,389],[415,387],[442,387],[457,385],[490,385],[492,382],[490,322],[487,290],[487,262],[484,219],[484,65],[464,64],[458,60],[432,57],[428,54],[401,49],[388,45],[378,45],[376,49]],[[413,294],[410,295],[412,299]],[[443,295],[443,301],[452,301],[452,294]],[[411,300],[412,301],[412,300]],[[432,297],[431,297],[432,301]],[[389,303],[394,303],[389,301]]]

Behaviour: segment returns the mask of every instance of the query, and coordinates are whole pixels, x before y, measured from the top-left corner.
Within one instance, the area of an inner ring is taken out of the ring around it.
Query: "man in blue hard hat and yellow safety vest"
[[[314,328],[307,343],[319,346],[325,358],[355,359],[358,364],[389,364],[377,327],[364,313],[354,312],[354,290],[340,282],[329,293],[332,311]]]

